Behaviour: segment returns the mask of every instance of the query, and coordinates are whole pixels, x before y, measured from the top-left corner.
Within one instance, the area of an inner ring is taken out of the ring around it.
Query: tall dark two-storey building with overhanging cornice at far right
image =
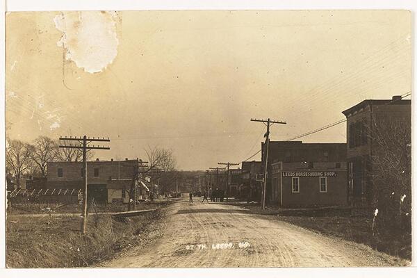
[[[407,148],[407,142],[410,144],[409,147],[411,146],[411,101],[400,96],[394,96],[392,99],[367,99],[342,113],[347,119],[349,202],[352,205],[372,206],[375,194],[391,195],[391,192],[395,191],[391,188],[392,185],[399,182],[388,181],[389,177],[379,175],[382,171],[378,170],[378,167],[381,165],[375,163],[389,155],[384,152],[386,150],[381,143],[391,152],[401,147]],[[407,142],[391,142],[393,136],[400,133],[401,137],[404,137],[401,139]],[[399,151],[398,156],[402,156],[404,152],[401,149]],[[399,168],[399,165],[386,165],[383,172],[389,174],[392,170],[399,170],[395,168]],[[403,171],[404,176],[411,177],[411,172],[407,169]]]

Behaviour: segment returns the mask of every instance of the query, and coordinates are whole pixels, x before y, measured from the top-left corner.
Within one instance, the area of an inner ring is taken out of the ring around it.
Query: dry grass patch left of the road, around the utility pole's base
[[[79,232],[79,217],[9,215],[6,265],[8,268],[90,266],[131,245],[134,236],[146,234],[163,215],[163,211],[157,210],[117,222],[111,215],[92,214],[85,235]]]

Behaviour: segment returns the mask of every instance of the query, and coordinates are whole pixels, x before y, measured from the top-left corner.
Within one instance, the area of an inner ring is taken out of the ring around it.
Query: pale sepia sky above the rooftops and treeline
[[[286,121],[271,128],[286,140],[410,90],[407,11],[6,15],[7,136],[110,137],[101,159],[157,145],[183,170],[240,163],[263,140],[251,117]],[[345,142],[345,128],[299,140]]]

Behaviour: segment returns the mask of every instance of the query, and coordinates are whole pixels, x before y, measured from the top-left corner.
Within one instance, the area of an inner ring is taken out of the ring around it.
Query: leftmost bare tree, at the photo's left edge
[[[17,188],[20,188],[20,179],[33,166],[31,160],[33,146],[20,140],[7,140],[6,167],[15,176]]]

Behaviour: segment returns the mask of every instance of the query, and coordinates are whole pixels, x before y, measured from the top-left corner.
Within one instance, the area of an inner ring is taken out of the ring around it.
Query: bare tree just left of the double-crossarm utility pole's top
[[[47,136],[39,136],[35,139],[31,159],[38,167],[42,177],[47,177],[47,163],[56,161],[56,142]]]

